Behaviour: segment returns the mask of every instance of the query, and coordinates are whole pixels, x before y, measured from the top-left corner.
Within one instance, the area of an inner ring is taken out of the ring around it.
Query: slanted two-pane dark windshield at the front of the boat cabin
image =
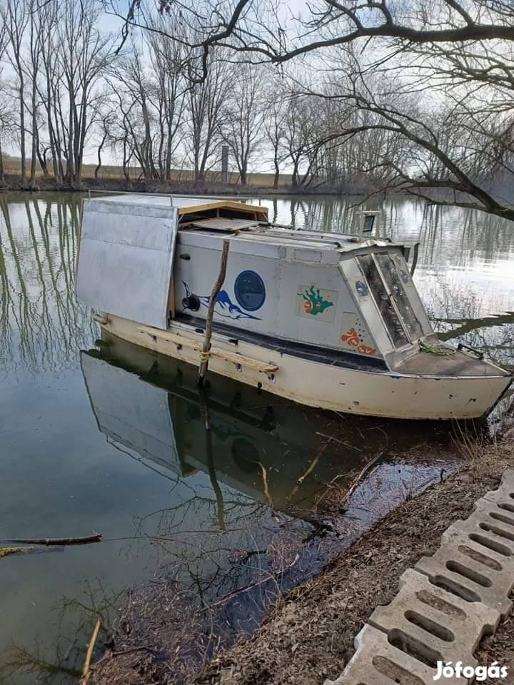
[[[421,338],[423,330],[388,252],[357,258],[393,345],[404,347]]]

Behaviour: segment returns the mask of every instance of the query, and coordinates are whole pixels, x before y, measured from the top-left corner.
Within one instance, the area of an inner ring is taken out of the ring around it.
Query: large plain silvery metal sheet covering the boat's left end
[[[84,201],[76,296],[156,328],[168,323],[177,208]]]

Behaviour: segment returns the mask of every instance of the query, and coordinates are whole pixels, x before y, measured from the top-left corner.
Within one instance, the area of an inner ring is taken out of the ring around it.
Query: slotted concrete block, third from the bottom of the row
[[[438,551],[420,559],[415,569],[435,584],[507,616],[514,588],[514,513],[492,499],[479,499],[470,517],[450,526]]]

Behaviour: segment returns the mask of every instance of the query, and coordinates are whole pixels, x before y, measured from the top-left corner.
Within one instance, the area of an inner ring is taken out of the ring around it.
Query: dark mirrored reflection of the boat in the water
[[[378,452],[387,448],[386,462],[423,444],[428,459],[430,445],[449,438],[440,424],[317,411],[218,375],[201,390],[196,367],[103,335],[99,350],[81,356],[99,430],[146,465],[183,478],[203,471],[275,511],[312,512],[334,477],[343,488]],[[403,482],[433,472],[408,461]]]

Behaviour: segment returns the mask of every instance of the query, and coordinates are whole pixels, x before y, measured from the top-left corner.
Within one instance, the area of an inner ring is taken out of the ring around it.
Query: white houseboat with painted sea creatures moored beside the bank
[[[364,217],[365,230],[369,217]],[[221,254],[228,263],[207,315]],[[228,200],[84,200],[76,295],[108,333],[304,405],[408,419],[470,419],[512,380],[440,343],[408,247],[291,230]]]

